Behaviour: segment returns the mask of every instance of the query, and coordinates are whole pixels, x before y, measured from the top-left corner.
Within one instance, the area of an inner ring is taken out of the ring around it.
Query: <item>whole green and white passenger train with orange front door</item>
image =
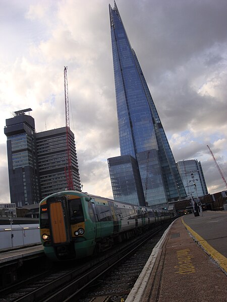
[[[167,210],[62,191],[40,202],[40,239],[51,261],[80,259],[97,255],[170,218],[172,213]]]

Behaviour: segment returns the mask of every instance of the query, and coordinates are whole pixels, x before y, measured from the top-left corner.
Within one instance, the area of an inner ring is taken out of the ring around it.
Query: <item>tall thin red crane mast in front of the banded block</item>
[[[73,171],[72,171],[72,158],[71,158],[71,144],[70,144],[70,117],[69,117],[69,93],[68,93],[68,79],[67,79],[67,66],[64,66],[64,84],[65,84],[65,113],[66,113],[66,183],[67,190],[74,190],[73,185]]]

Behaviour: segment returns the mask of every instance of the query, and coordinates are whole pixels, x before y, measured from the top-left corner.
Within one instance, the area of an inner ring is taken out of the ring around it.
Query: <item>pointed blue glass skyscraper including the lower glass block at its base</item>
[[[185,198],[185,188],[116,3],[109,16],[120,150],[127,157],[108,159],[113,196],[164,207]]]

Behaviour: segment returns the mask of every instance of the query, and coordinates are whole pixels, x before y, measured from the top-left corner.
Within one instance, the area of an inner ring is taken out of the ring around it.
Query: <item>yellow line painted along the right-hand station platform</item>
[[[191,233],[191,235],[198,241],[198,243],[202,246],[202,248],[206,251],[206,253],[213,258],[214,261],[227,273],[227,258],[216,251],[211,245],[208,244],[199,234],[193,231],[188,224],[185,223],[183,217],[181,218],[182,223],[185,228]]]

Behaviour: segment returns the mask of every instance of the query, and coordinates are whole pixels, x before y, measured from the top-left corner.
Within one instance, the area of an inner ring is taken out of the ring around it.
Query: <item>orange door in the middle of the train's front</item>
[[[50,197],[47,199],[49,206],[49,218],[51,226],[51,237],[53,244],[69,242],[69,231],[66,221],[66,199],[65,197]]]

